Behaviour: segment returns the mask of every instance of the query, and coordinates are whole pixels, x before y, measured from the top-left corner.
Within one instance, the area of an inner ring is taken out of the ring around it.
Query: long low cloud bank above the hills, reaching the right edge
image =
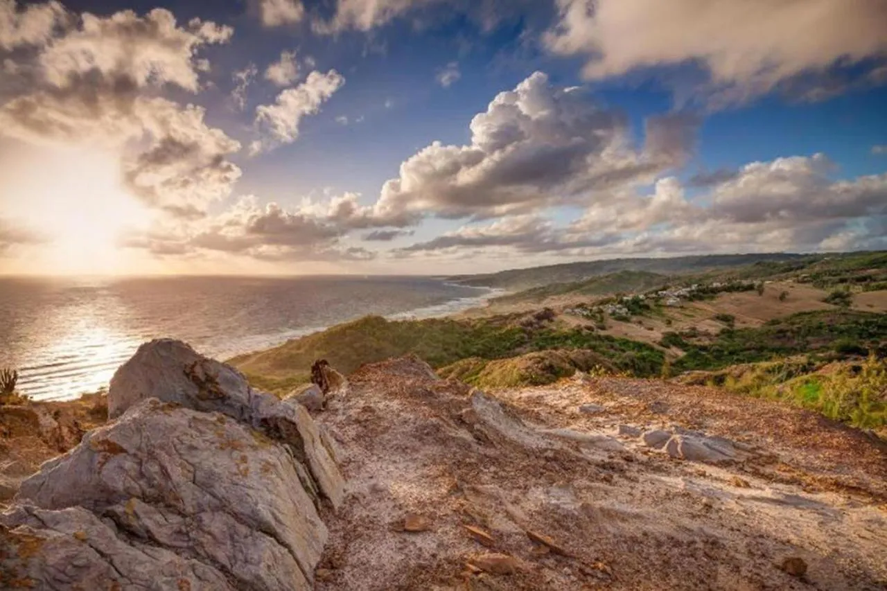
[[[887,174],[832,180],[822,154],[751,162],[689,200],[676,177],[641,194],[625,187],[568,225],[538,215],[466,225],[395,256],[483,252],[617,256],[812,251],[887,246]]]

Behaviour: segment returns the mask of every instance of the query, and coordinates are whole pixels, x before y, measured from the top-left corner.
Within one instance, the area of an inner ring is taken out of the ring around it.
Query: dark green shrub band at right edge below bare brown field
[[[666,333],[660,344],[685,355],[675,361],[679,371],[720,369],[768,361],[799,353],[835,351],[836,344],[855,343],[856,353],[887,354],[887,314],[827,310],[799,312],[764,326],[723,330],[717,336]]]

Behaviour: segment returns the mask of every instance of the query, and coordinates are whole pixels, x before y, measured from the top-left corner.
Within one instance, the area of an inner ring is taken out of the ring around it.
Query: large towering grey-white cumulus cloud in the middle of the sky
[[[475,115],[470,144],[434,142],[403,162],[376,209],[483,218],[583,204],[681,165],[697,124],[682,114],[651,118],[639,150],[624,114],[537,72]]]

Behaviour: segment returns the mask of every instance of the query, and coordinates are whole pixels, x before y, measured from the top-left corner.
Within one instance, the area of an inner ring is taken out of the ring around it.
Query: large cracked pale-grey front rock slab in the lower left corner
[[[39,551],[3,568],[39,588],[308,589],[327,533],[299,465],[224,414],[145,400],[22,483],[0,529]]]

